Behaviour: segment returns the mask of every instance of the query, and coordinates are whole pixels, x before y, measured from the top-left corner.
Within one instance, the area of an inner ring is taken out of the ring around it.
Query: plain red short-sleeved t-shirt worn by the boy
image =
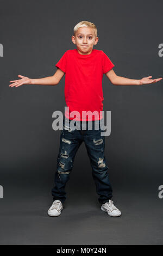
[[[55,66],[66,74],[65,101],[69,113],[66,109],[65,117],[84,121],[102,119],[102,78],[115,66],[109,57],[102,50],[93,49],[87,55],[80,54],[77,49],[67,50]],[[70,116],[72,111],[80,115]],[[82,111],[96,111],[96,115],[92,115],[92,119],[87,115],[84,118]]]

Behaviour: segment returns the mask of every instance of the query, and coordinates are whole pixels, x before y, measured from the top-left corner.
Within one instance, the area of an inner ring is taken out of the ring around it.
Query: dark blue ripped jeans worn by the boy
[[[65,125],[65,119],[69,124],[71,121],[64,117],[63,130],[61,130],[60,133],[57,170],[54,177],[55,186],[52,188],[53,200],[58,199],[62,203],[65,201],[66,182],[70,179],[70,173],[77,150],[84,141],[92,167],[92,176],[95,181],[96,192],[99,196],[98,201],[102,204],[108,202],[109,199],[112,198],[112,187],[109,181],[108,166],[106,166],[104,156],[105,136],[101,136],[101,132],[104,132],[104,130],[101,130],[100,126],[98,130],[95,130],[95,123],[99,123],[99,120],[92,121],[92,130],[88,130],[89,121],[80,121],[80,130],[72,130],[71,127],[68,129]],[[86,130],[83,129],[82,123],[84,123]]]

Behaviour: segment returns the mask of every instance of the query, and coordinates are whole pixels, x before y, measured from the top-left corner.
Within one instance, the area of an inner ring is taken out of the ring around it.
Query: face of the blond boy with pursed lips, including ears
[[[76,35],[72,35],[72,42],[76,44],[80,54],[90,54],[93,50],[93,45],[98,42],[98,37],[91,27],[78,28]]]

